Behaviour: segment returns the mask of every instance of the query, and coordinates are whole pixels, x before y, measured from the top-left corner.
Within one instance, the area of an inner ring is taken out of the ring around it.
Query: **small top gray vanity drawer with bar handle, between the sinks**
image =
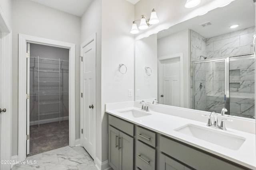
[[[152,146],[156,147],[156,133],[144,129],[142,127],[136,127],[136,136],[137,139]]]

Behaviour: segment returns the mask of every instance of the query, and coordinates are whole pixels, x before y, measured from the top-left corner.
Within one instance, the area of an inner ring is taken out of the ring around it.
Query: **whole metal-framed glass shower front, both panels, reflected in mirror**
[[[254,55],[194,61],[194,109],[255,118]]]

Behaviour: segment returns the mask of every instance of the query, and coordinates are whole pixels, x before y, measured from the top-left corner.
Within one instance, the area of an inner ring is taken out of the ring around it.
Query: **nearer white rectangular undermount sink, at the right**
[[[246,140],[244,137],[223,133],[219,130],[211,129],[210,127],[201,127],[193,124],[184,125],[178,129],[174,129],[174,131],[232,150],[238,150]]]

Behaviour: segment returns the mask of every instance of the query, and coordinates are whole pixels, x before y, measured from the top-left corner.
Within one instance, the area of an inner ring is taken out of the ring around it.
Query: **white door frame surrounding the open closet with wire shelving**
[[[69,146],[74,147],[76,142],[75,120],[75,52],[76,45],[52,39],[19,34],[18,51],[18,160],[26,158],[26,52],[27,43],[35,43],[70,49],[69,51]]]

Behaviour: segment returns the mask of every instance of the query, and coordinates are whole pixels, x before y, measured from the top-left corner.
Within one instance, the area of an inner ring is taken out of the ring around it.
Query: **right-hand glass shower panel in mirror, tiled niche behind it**
[[[254,118],[254,57],[230,57],[230,115]]]

